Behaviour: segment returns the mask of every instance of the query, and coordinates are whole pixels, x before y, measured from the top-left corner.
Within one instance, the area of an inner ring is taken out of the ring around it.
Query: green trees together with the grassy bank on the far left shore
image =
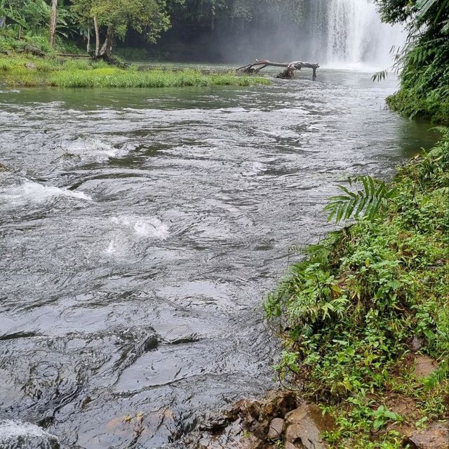
[[[107,67],[119,62],[112,44],[130,29],[154,42],[170,26],[178,1],[165,0],[0,0],[0,75],[18,86],[181,87],[267,84],[262,77],[194,70],[138,70]],[[179,2],[182,4],[182,2]],[[173,12],[173,11],[172,11]],[[63,60],[66,53],[92,60]],[[42,58],[44,57],[44,58]]]

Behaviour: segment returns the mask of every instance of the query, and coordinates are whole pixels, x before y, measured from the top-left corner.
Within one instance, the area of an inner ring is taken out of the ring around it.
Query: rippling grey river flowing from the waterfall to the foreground
[[[0,419],[160,448],[272,387],[260,304],[289,248],[328,229],[335,182],[433,138],[384,110],[395,88],[3,88]]]

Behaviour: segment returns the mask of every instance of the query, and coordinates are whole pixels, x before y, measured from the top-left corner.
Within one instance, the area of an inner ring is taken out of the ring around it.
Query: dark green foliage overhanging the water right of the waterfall
[[[449,1],[377,0],[384,20],[408,23],[408,42],[399,51],[401,90],[391,109],[410,118],[449,123]]]

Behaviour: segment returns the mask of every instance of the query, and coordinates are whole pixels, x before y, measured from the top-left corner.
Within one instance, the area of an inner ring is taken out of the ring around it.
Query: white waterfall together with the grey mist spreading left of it
[[[391,48],[405,39],[400,25],[382,23],[373,0],[309,0],[297,8],[300,14],[291,8],[280,13],[276,5],[262,4],[250,22],[220,17],[208,31],[174,23],[159,49],[174,60],[235,64],[268,58],[371,70],[389,67]]]

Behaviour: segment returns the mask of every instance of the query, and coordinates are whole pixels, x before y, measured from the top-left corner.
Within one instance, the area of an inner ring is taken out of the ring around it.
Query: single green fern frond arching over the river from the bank
[[[375,180],[368,175],[349,178],[348,181],[351,187],[356,182],[362,185],[363,189],[351,192],[347,187],[337,186],[343,194],[332,196],[330,203],[324,208],[329,212],[328,221],[335,219],[335,224],[341,220],[359,216],[373,220],[380,210],[387,206],[388,201],[394,198],[394,189],[389,189],[385,182]]]

